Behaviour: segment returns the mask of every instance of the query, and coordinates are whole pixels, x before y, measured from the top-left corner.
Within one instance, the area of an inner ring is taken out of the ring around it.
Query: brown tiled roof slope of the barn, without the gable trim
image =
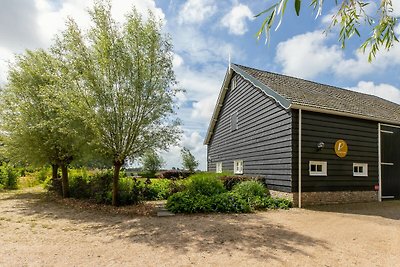
[[[336,110],[378,121],[400,123],[400,105],[380,97],[245,66],[236,66],[289,100],[292,105]]]

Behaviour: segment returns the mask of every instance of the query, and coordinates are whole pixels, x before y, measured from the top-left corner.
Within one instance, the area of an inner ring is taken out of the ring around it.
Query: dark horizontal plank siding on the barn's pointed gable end
[[[263,176],[270,189],[290,192],[291,112],[240,75],[233,79],[236,88],[227,92],[208,145],[208,171],[222,162],[223,171],[233,172],[234,160],[243,160],[245,175]],[[238,129],[232,131],[235,112]]]

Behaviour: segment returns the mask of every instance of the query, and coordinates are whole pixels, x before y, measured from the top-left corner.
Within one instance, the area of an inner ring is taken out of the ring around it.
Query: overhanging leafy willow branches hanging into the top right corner
[[[380,0],[377,2],[375,15],[369,15],[369,13],[366,12],[366,7],[375,4],[374,2],[362,0],[335,0],[337,10],[327,29],[331,30],[333,27],[339,26],[339,41],[342,44],[342,48],[344,48],[346,41],[354,34],[360,36],[359,29],[361,26],[368,26],[371,29],[371,34],[361,44],[360,48],[364,52],[369,50],[369,61],[372,61],[380,48],[389,50],[394,42],[399,41],[398,33],[395,31],[398,18],[393,14],[392,0]],[[258,38],[260,38],[262,33],[265,33],[266,39],[269,40],[271,28],[277,17],[279,17],[279,22],[276,29],[279,28],[287,3],[288,0],[277,0],[275,4],[256,15],[256,17],[266,15],[258,31]],[[321,15],[323,4],[324,0],[310,0],[310,6],[317,11],[316,17]],[[300,15],[301,5],[301,0],[294,0],[294,8],[297,16]]]

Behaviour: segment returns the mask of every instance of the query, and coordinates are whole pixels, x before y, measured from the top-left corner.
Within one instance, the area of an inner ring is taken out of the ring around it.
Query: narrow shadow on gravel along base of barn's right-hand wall
[[[335,213],[379,216],[392,220],[400,220],[400,200],[385,200],[383,202],[333,204],[307,207],[309,210]]]

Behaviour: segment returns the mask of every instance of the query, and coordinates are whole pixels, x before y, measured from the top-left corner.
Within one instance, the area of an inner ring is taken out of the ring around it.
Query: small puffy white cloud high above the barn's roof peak
[[[247,32],[246,20],[253,20],[254,15],[246,5],[234,6],[221,20],[222,26],[229,29],[229,33],[243,35]]]

